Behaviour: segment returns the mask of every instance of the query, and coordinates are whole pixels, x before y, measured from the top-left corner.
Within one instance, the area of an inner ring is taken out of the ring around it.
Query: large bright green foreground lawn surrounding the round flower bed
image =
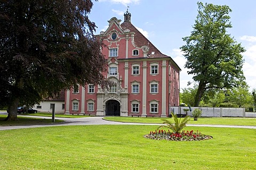
[[[143,138],[152,125],[0,131],[0,169],[255,169],[256,130],[187,127],[205,141]]]

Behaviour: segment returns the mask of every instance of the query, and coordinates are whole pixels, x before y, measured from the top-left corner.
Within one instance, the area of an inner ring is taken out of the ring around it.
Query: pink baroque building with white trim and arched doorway
[[[179,105],[180,67],[150,43],[131,23],[111,18],[97,37],[106,44],[106,79],[115,82],[109,91],[88,84],[66,91],[66,114],[97,116],[166,117]]]

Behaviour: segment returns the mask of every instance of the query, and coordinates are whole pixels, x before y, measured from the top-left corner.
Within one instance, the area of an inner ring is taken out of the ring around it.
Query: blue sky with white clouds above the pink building
[[[93,1],[93,0],[92,0]],[[183,37],[190,36],[198,14],[195,0],[98,0],[93,1],[89,19],[97,25],[95,34],[108,28],[108,21],[116,17],[124,21],[129,6],[132,24],[163,54],[171,56],[179,65],[180,89],[194,82],[184,67],[186,58],[180,47],[185,45]],[[214,5],[228,5],[233,28],[227,29],[231,37],[246,49],[243,71],[250,91],[256,89],[256,1],[255,0],[212,0],[200,1]],[[122,23],[121,22],[121,23]],[[192,83],[189,87],[191,87]]]

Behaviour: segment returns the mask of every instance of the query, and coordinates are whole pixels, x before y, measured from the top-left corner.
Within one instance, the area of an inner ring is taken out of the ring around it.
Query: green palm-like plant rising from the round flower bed
[[[181,117],[178,118],[177,114],[173,114],[173,113],[171,114],[172,114],[174,123],[163,119],[164,121],[163,124],[165,125],[159,126],[158,129],[166,127],[168,129],[171,129],[174,133],[180,133],[181,130],[186,127],[186,124],[189,121],[189,116],[186,116],[181,120]]]

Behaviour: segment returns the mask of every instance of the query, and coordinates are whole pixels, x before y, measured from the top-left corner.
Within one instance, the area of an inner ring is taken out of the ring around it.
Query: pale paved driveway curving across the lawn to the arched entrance
[[[29,116],[37,117],[38,116]],[[51,119],[52,117],[42,117]],[[122,123],[122,122],[112,122],[102,119],[103,117],[81,117],[81,118],[62,118],[57,117],[58,120],[63,120],[63,123],[56,124],[43,124],[43,125],[24,125],[24,126],[0,126],[0,130],[11,130],[11,129],[23,129],[23,128],[37,128],[46,126],[67,126],[67,125],[103,125],[103,124],[123,124],[123,125],[161,125],[161,124],[146,124],[146,123]],[[204,126],[204,127],[215,127],[215,128],[246,128],[246,129],[256,129],[256,126],[235,126],[235,125],[207,125],[207,124],[188,124],[187,126]]]

